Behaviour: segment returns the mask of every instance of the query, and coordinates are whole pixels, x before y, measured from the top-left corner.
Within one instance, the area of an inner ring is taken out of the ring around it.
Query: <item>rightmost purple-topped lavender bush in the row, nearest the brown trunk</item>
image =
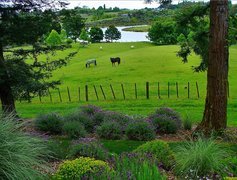
[[[182,127],[180,115],[170,108],[157,109],[147,120],[154,125],[157,133],[176,133]]]

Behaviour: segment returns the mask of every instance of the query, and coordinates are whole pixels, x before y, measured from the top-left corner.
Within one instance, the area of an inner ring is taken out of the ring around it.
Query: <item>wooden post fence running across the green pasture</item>
[[[140,85],[140,86],[139,86]],[[120,86],[120,87],[119,87]],[[143,87],[142,87],[143,86]],[[166,87],[165,87],[166,86]],[[182,87],[183,86],[183,87]],[[92,100],[131,100],[131,99],[179,99],[179,98],[195,98],[204,97],[204,93],[200,93],[198,82],[145,82],[141,83],[114,83],[106,85],[85,85],[78,86],[75,91],[73,88],[66,86],[65,88],[48,89],[46,92],[39,92],[38,101],[44,102],[76,102],[76,101],[92,101]],[[229,83],[227,83],[227,96],[230,97]],[[205,88],[201,88],[205,92]],[[76,92],[76,93],[75,93]],[[82,93],[84,92],[84,94]],[[46,95],[46,98],[44,97]],[[37,101],[37,99],[34,99]]]

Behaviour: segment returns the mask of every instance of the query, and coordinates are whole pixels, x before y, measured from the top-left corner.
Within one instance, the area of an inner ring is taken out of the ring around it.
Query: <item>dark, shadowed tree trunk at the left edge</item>
[[[4,113],[16,114],[15,101],[9,84],[9,75],[4,62],[3,47],[0,44],[0,99]]]

